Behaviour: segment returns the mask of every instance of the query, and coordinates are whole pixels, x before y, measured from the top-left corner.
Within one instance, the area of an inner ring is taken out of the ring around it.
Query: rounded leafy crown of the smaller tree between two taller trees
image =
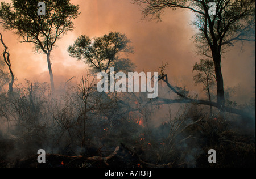
[[[130,40],[125,34],[110,32],[102,37],[90,39],[82,35],[70,45],[68,52],[71,57],[84,60],[94,72],[107,71],[117,65],[118,70],[127,71],[134,64],[130,59],[119,59],[121,53],[132,53]],[[122,64],[122,65],[121,65]],[[128,68],[128,69],[127,69]]]

